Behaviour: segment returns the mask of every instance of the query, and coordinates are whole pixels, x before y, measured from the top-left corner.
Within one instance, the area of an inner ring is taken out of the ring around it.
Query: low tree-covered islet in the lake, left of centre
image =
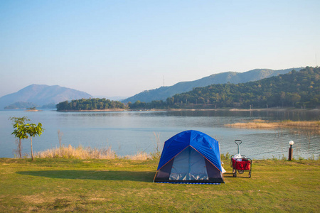
[[[94,109],[125,109],[122,102],[110,99],[78,99],[71,102],[60,102],[56,105],[58,111],[63,110],[94,110]]]

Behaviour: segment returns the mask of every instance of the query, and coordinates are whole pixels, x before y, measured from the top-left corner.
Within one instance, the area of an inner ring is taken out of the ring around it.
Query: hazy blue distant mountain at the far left
[[[90,97],[92,96],[86,92],[58,85],[31,84],[28,87],[20,89],[18,92],[0,97],[0,109],[9,105],[23,106],[21,102],[28,102],[28,105],[32,103],[35,106],[42,107],[43,105],[58,104],[66,100],[88,99]]]

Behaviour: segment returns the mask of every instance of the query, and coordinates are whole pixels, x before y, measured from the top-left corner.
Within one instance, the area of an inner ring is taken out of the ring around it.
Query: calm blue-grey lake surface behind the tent
[[[240,153],[248,158],[287,158],[289,141],[294,141],[294,158],[318,158],[320,136],[289,130],[233,129],[233,124],[253,119],[281,121],[320,120],[319,111],[112,111],[58,112],[0,110],[0,158],[14,158],[15,138],[9,117],[27,116],[31,123],[41,122],[46,129],[33,138],[33,151],[45,151],[59,146],[58,130],[63,133],[62,144],[68,146],[112,147],[117,155],[134,155],[139,151],[156,150],[159,135],[164,141],[181,131],[197,130],[220,143],[220,153],[238,152],[236,139],[242,140]],[[22,141],[23,153],[30,153],[30,139]]]

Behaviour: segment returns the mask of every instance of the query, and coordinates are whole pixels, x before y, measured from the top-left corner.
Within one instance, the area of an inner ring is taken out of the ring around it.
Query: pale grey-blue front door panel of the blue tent
[[[208,180],[203,156],[191,146],[174,158],[169,180]]]

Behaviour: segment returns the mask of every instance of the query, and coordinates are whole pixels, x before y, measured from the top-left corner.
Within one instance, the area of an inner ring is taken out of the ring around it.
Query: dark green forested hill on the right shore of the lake
[[[320,68],[306,67],[299,72],[240,84],[212,84],[191,92],[176,94],[166,102],[136,102],[134,108],[222,108],[319,107]]]

